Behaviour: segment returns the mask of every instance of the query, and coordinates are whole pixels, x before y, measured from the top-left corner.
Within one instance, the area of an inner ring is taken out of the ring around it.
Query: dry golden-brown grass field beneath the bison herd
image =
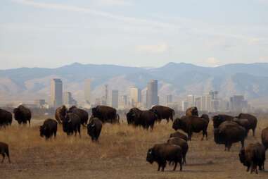
[[[99,143],[91,142],[87,130],[82,137],[67,137],[58,126],[56,140],[39,137],[42,120],[32,120],[32,126],[19,127],[16,121],[10,128],[0,130],[0,141],[9,144],[11,164],[0,163],[0,178],[268,178],[267,172],[258,175],[245,171],[238,160],[240,144],[230,152],[223,145],[216,145],[209,126],[209,140],[200,141],[201,134],[194,134],[189,142],[187,165],[183,171],[157,171],[157,164],[146,162],[146,152],[155,143],[165,142],[172,130],[172,123],[155,125],[153,131],[133,128],[126,123],[103,126]],[[256,138],[250,131],[245,144],[260,142],[262,128],[268,120],[260,119]],[[0,157],[1,158],[1,157]]]

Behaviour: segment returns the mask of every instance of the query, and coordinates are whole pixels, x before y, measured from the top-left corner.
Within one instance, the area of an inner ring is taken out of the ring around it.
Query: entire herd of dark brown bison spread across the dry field
[[[31,111],[25,106],[20,105],[13,110],[15,121],[18,124],[30,125]],[[155,144],[148,149],[146,161],[149,163],[158,163],[158,171],[164,171],[167,162],[174,164],[174,170],[179,163],[180,171],[182,165],[186,164],[186,154],[189,151],[188,142],[191,141],[193,133],[202,132],[203,137],[201,140],[208,140],[208,124],[210,117],[208,114],[199,116],[198,109],[191,107],[186,110],[185,116],[174,119],[174,110],[167,106],[153,106],[149,110],[141,110],[132,108],[128,113],[125,113],[128,125],[134,127],[141,127],[146,130],[153,127],[155,123],[160,123],[166,120],[167,123],[171,120],[173,122],[172,128],[176,130],[170,134],[170,138],[165,143]],[[69,135],[77,135],[81,137],[81,126],[87,128],[87,134],[91,137],[93,142],[98,141],[101,135],[101,129],[104,123],[120,123],[120,116],[116,109],[109,106],[96,106],[91,109],[91,117],[84,109],[79,109],[72,106],[69,109],[66,106],[60,106],[56,109],[55,118],[48,118],[44,124],[39,127],[41,137],[56,138],[58,124],[63,128],[63,132]],[[244,141],[248,136],[249,130],[253,130],[255,136],[255,129],[257,127],[257,118],[248,113],[240,113],[238,116],[229,116],[226,114],[219,114],[212,116],[213,134],[216,144],[224,144],[225,150],[230,150],[231,145],[236,142],[241,142],[241,150],[238,154],[241,163],[247,167],[247,171],[257,173],[257,166],[259,170],[264,170],[265,151],[268,149],[268,127],[262,130],[262,144],[259,142],[248,144],[244,147]],[[0,109],[0,128],[12,123],[12,113]],[[182,130],[183,132],[180,132]],[[0,142],[0,154],[8,156],[8,144]]]

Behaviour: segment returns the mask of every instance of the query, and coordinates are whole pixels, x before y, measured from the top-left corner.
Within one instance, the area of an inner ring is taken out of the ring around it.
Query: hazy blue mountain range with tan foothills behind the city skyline
[[[256,106],[268,103],[268,63],[234,63],[217,67],[196,66],[189,63],[167,63],[160,68],[137,68],[115,65],[72,63],[60,68],[16,68],[0,70],[1,104],[11,101],[30,102],[49,100],[50,80],[61,78],[63,90],[72,92],[75,99],[84,98],[84,80],[91,79],[92,102],[104,93],[103,86],[128,94],[129,87],[143,90],[149,80],[158,80],[160,101],[167,94],[175,99],[186,94],[200,95],[210,90],[229,99],[243,94]]]

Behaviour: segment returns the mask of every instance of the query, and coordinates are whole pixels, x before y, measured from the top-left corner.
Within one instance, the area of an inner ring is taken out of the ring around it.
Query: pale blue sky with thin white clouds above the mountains
[[[267,9],[268,0],[1,0],[0,68],[268,62]]]

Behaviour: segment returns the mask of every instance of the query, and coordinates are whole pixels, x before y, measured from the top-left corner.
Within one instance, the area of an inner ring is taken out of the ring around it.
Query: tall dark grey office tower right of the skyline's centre
[[[158,105],[158,80],[151,80],[147,84],[146,106],[150,109],[152,106]]]

